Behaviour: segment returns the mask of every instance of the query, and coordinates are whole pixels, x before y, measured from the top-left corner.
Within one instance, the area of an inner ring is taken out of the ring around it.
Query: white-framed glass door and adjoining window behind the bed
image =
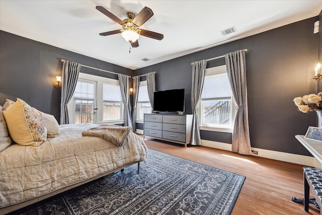
[[[79,73],[67,108],[70,123],[124,123],[118,80]]]

